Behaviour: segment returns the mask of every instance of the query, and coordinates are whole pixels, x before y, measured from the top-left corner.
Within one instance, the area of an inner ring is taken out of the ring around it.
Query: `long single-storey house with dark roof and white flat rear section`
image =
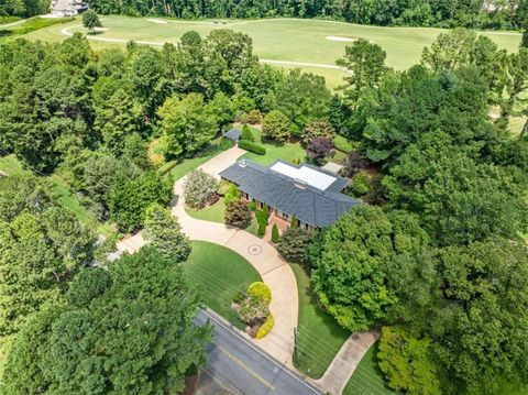
[[[320,229],[336,222],[362,201],[341,194],[349,180],[308,165],[276,161],[270,167],[241,160],[220,173],[235,184],[242,197],[268,205],[271,216],[294,218],[305,229]]]

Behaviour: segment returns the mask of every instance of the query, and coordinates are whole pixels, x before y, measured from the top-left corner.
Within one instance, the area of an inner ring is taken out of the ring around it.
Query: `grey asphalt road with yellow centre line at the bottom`
[[[248,339],[231,329],[210,310],[201,310],[196,322],[209,321],[213,341],[208,344],[207,371],[234,394],[318,395],[319,389],[275,361]]]

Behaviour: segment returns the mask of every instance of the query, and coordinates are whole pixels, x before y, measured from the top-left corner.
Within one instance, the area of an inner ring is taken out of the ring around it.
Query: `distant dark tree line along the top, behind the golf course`
[[[157,15],[180,19],[323,18],[382,26],[521,29],[527,0],[92,0],[103,14]],[[48,1],[4,0],[0,15],[46,13]]]

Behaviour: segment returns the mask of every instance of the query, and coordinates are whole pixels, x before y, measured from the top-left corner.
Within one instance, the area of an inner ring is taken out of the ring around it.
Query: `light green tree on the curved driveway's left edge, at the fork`
[[[173,262],[184,262],[190,254],[190,241],[168,208],[158,204],[145,211],[145,239]]]

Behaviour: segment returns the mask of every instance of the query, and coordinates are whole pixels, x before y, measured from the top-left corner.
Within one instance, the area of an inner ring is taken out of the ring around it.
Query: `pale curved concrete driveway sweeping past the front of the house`
[[[234,146],[227,150],[199,168],[219,177],[219,173],[234,163],[245,151]],[[185,211],[183,190],[185,177],[174,186],[175,198],[172,210],[182,224],[183,231],[191,240],[201,240],[223,245],[242,255],[258,272],[272,292],[270,310],[275,326],[264,339],[253,339],[254,343],[279,362],[293,367],[294,328],[298,318],[297,282],[289,265],[266,241],[244,230],[223,223],[209,222],[189,217]],[[118,250],[133,253],[145,244],[141,233],[118,242]]]

